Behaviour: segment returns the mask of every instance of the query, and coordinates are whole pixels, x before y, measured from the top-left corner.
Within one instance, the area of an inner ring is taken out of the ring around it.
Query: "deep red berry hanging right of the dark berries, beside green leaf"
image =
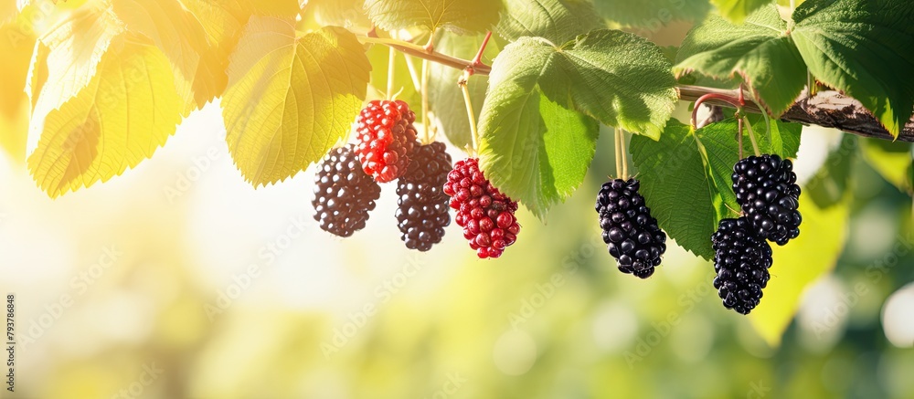
[[[463,237],[478,257],[501,257],[517,240],[517,203],[484,177],[478,159],[454,163],[444,194],[451,196],[451,207],[457,210],[454,222],[463,227]]]

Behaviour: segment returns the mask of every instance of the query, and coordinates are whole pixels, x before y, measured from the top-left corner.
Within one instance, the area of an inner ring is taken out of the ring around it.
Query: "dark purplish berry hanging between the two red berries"
[[[397,222],[400,239],[409,249],[422,252],[441,242],[444,227],[451,224],[444,184],[451,172],[451,155],[443,142],[417,146],[412,161],[397,182]]]

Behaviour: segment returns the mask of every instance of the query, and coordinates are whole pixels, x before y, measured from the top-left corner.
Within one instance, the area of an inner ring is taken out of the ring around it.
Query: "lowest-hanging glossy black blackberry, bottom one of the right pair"
[[[761,289],[771,275],[771,245],[756,236],[746,216],[724,219],[711,236],[714,248],[714,288],[724,307],[740,314],[759,306]]]

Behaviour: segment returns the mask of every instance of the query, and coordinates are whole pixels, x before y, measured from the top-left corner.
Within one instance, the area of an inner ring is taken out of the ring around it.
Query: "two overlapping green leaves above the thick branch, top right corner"
[[[914,5],[906,0],[811,0],[781,21],[762,6],[744,25],[711,17],[693,29],[679,71],[714,78],[739,74],[772,115],[795,100],[805,68],[860,100],[897,136],[914,112]]]

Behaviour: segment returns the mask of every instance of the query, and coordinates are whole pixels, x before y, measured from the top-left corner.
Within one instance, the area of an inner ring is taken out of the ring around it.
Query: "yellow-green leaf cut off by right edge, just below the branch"
[[[864,139],[860,141],[864,160],[869,163],[888,183],[894,184],[904,193],[914,191],[911,181],[911,143],[888,142],[886,140]]]

